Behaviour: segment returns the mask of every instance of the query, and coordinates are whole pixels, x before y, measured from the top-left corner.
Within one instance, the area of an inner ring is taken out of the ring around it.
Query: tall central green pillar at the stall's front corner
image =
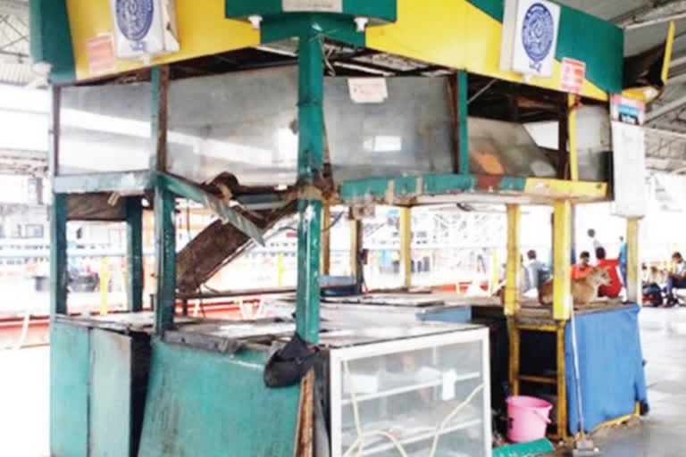
[[[305,186],[297,202],[297,334],[309,343],[319,341],[319,269],[322,238],[322,200],[311,187],[323,170],[323,55],[314,29],[298,45],[297,180]]]

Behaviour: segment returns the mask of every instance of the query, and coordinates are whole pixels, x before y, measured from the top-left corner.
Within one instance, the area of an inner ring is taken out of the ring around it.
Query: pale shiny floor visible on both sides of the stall
[[[686,455],[686,309],[641,312],[651,412],[640,425],[596,438],[608,457]],[[48,451],[47,347],[0,351],[0,455],[45,457]]]

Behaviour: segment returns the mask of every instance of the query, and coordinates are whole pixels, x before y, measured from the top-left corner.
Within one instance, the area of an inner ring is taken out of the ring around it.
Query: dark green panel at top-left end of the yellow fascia
[[[31,58],[50,63],[50,82],[76,79],[66,0],[29,0]]]

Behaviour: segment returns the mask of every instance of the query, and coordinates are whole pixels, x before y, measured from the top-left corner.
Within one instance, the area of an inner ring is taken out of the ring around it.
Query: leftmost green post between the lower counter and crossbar
[[[50,317],[67,312],[67,195],[53,194],[50,207]]]

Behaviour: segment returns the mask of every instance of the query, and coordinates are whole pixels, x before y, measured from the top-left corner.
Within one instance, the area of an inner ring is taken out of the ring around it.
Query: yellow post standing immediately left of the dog
[[[572,204],[558,201],[553,212],[553,317],[556,320],[568,320],[572,312],[571,249]]]

